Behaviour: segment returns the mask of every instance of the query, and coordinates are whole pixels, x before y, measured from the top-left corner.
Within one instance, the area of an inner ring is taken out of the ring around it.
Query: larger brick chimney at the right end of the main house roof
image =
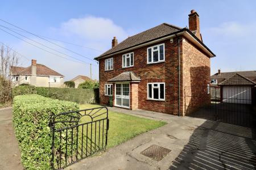
[[[195,10],[191,10],[191,14],[189,14],[188,16],[189,30],[193,32],[195,36],[199,38],[199,40],[203,41],[200,33],[199,15]]]

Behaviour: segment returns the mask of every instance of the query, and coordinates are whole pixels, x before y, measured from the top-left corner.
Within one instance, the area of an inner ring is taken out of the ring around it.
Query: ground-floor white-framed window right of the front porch
[[[147,83],[147,99],[165,100],[166,83]]]

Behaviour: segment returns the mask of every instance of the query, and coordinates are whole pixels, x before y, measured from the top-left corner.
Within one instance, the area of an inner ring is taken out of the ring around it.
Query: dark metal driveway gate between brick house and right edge
[[[185,115],[256,128],[255,96],[245,87],[220,90],[220,87],[185,87]],[[220,90],[220,95],[212,91]],[[249,91],[249,92],[248,92]]]

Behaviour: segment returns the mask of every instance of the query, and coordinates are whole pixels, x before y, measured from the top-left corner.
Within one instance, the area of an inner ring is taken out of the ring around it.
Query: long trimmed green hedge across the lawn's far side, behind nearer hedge
[[[98,103],[98,88],[55,88],[55,87],[34,87],[17,86],[13,90],[13,95],[38,94],[52,99],[73,101],[78,104]]]

